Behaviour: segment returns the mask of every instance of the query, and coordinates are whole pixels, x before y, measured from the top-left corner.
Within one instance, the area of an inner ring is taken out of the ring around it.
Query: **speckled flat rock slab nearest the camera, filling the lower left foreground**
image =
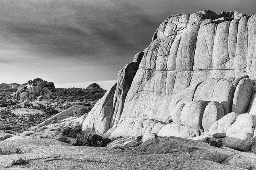
[[[41,139],[40,139],[41,140]],[[1,170],[242,170],[208,160],[176,156],[174,154],[148,154],[146,152],[102,147],[75,147],[38,145],[25,147],[29,153],[1,155]],[[23,150],[22,149],[22,150]],[[11,166],[13,160],[26,158],[29,164]],[[9,167],[9,168],[5,168]]]

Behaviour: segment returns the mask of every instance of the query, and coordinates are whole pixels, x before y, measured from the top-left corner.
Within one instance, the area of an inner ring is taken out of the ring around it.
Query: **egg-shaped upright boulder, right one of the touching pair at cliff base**
[[[204,109],[202,117],[202,127],[204,131],[209,131],[211,125],[224,116],[224,109],[219,102],[212,101]]]

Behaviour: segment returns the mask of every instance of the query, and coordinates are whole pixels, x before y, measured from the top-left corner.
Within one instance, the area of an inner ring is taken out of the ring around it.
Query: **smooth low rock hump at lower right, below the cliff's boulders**
[[[244,168],[243,164],[238,164],[236,161],[234,161],[235,157],[239,157],[243,160],[243,163],[246,162],[246,167],[250,167],[249,169],[256,169],[254,164],[256,161],[256,155],[254,154],[244,154],[243,152],[228,149],[226,147],[212,147],[207,143],[180,137],[158,137],[156,139],[150,139],[132,150],[144,151],[150,154],[175,154],[176,156],[211,160],[221,164]]]

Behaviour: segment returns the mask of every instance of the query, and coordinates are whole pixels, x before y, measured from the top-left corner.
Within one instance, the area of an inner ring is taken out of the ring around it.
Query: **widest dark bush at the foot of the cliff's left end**
[[[102,138],[97,134],[80,135],[76,139],[74,146],[86,146],[86,147],[106,147],[111,140],[108,138]]]

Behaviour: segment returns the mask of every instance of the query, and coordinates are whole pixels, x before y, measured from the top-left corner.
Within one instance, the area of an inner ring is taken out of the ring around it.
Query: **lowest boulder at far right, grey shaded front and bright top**
[[[232,149],[248,151],[252,144],[252,137],[247,133],[236,133],[226,138],[225,145]]]

